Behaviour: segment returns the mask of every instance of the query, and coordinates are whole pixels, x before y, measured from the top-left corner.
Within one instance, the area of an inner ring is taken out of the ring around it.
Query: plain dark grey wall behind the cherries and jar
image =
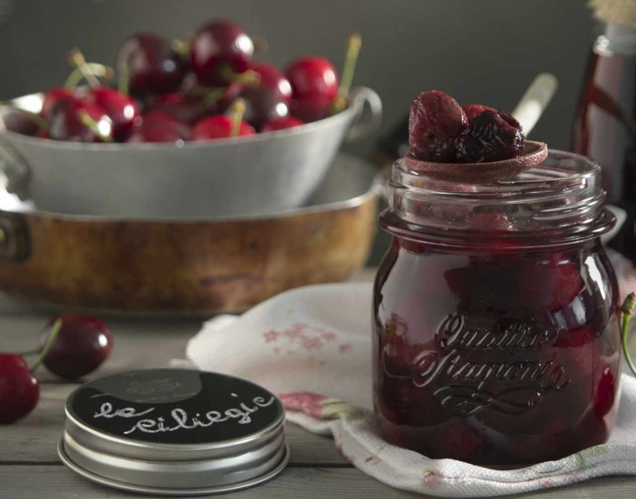
[[[384,104],[377,135],[345,146],[361,156],[423,90],[511,111],[543,71],[559,87],[531,138],[569,149],[595,30],[584,0],[0,0],[0,99],[61,84],[73,46],[112,64],[135,31],[184,38],[212,18],[264,37],[259,58],[282,67],[314,53],[340,68],[347,36],[360,32],[354,85],[370,86]]]

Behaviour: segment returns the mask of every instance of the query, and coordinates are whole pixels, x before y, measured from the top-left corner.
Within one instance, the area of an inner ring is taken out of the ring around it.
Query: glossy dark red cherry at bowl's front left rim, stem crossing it
[[[92,125],[85,123],[88,116]],[[106,110],[91,102],[74,101],[56,106],[52,113],[49,135],[53,140],[72,142],[104,142],[114,140],[113,120]]]

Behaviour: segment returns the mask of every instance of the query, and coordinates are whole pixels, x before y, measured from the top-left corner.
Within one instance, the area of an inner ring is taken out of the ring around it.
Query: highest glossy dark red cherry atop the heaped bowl
[[[249,69],[254,44],[235,22],[215,20],[201,26],[191,41],[190,65],[205,86],[225,86]]]

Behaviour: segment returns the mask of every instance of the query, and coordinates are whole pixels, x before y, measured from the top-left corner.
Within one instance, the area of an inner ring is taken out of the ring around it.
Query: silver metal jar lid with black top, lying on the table
[[[141,369],[80,386],[67,399],[58,452],[92,481],[158,495],[250,487],[289,460],[273,393],[192,369]]]

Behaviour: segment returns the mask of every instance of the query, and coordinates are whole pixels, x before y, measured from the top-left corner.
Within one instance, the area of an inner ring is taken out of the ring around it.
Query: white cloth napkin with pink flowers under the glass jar
[[[636,282],[621,264],[621,295]],[[617,269],[618,270],[618,269]],[[631,291],[631,290],[630,290]],[[636,378],[623,374],[618,422],[607,444],[515,470],[429,459],[383,441],[371,402],[370,283],[310,285],[274,296],[243,315],[220,315],[190,339],[198,369],[249,379],[277,393],[287,420],[333,435],[357,468],[396,488],[444,497],[522,493],[602,475],[636,474]]]

